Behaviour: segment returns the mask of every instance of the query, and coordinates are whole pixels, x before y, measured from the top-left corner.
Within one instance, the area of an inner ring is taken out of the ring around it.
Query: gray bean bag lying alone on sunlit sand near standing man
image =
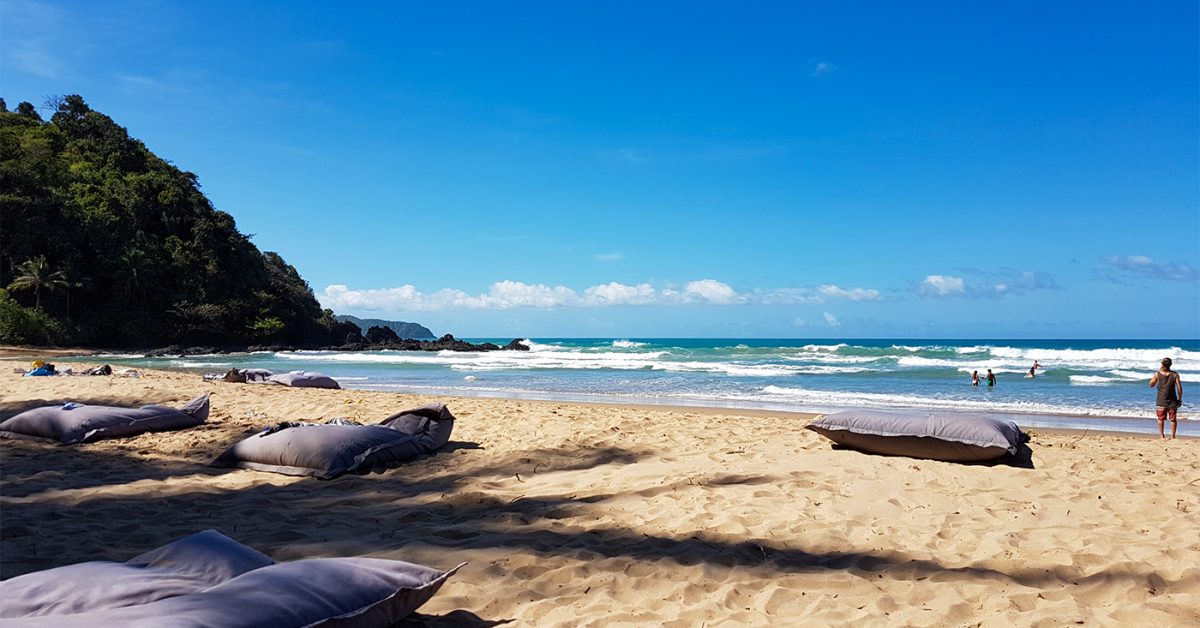
[[[827,414],[806,427],[860,451],[950,462],[995,460],[1015,454],[1025,441],[1010,420],[962,412],[859,409]]]

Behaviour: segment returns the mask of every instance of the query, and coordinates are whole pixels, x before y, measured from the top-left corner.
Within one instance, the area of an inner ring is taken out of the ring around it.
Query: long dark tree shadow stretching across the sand
[[[623,495],[602,492],[602,485],[599,485],[564,495],[530,492],[514,498],[510,492],[497,495],[488,486],[503,485],[511,491],[512,482],[526,482],[521,479],[521,474],[528,478],[535,473],[630,465],[655,453],[624,448],[542,449],[515,453],[488,463],[475,463],[469,455],[475,448],[478,445],[474,443],[458,443],[440,455],[414,461],[380,476],[343,476],[329,482],[306,478],[281,485],[263,483],[235,490],[185,485],[186,490],[178,492],[90,491],[76,503],[58,498],[46,483],[37,484],[47,490],[47,495],[41,496],[31,491],[35,483],[28,482],[28,478],[13,478],[5,473],[2,485],[6,503],[2,521],[6,534],[4,545],[0,545],[5,561],[0,563],[0,576],[7,579],[83,560],[121,561],[185,534],[214,528],[276,560],[355,555],[413,560],[406,556],[416,554],[426,558],[444,557],[449,550],[454,550],[462,557],[469,556],[474,550],[520,549],[545,557],[626,557],[646,562],[667,560],[683,566],[757,567],[779,573],[840,570],[860,578],[905,581],[994,580],[1002,586],[1014,584],[1039,587],[1100,580],[1136,584],[1159,578],[1148,567],[1139,569],[1130,566],[1093,574],[1081,574],[1075,568],[1057,564],[1031,564],[1001,570],[983,564],[948,566],[936,560],[914,558],[901,550],[812,551],[804,548],[802,537],[785,543],[733,539],[704,532],[685,538],[644,534],[620,527],[584,527],[577,525],[577,521],[594,520],[608,507],[606,502]],[[6,450],[5,457],[12,453]],[[118,466],[124,467],[124,477],[130,477],[130,465],[145,467],[137,473],[139,478],[247,473],[236,469],[217,471],[187,462],[151,465],[119,453],[97,453],[83,448],[56,448],[53,453],[78,456],[79,460],[74,462],[94,465],[94,476],[97,478],[108,476],[106,469]],[[536,471],[533,471],[534,462]],[[467,486],[468,480],[473,489]],[[710,486],[709,490],[721,490],[722,486],[764,482],[770,482],[770,478],[727,476],[713,478],[706,484]],[[102,483],[61,477],[50,484],[58,490],[65,486],[100,486]],[[13,485],[25,489],[19,491],[24,495],[23,498],[8,495]],[[647,486],[647,490],[658,486]],[[804,516],[804,513],[798,512],[797,516]],[[154,525],[138,525],[146,519],[152,519]],[[97,527],[95,521],[130,524]],[[32,534],[37,539],[44,539],[48,549],[38,551],[38,544],[35,543],[34,551],[23,555],[7,546],[10,540],[17,538],[10,537],[7,532],[13,522],[20,522],[23,527],[18,536]],[[70,556],[49,549],[55,544],[74,546],[77,539],[88,539],[95,546],[76,548]],[[488,568],[486,563],[475,568],[487,573],[498,569]],[[1164,586],[1200,586],[1200,574],[1193,572],[1176,582],[1164,582]],[[487,620],[460,610],[440,616],[420,615],[401,626],[497,626],[505,622],[508,620]]]

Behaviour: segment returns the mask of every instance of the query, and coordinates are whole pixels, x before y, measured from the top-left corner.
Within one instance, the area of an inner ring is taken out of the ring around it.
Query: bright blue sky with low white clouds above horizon
[[[1194,1],[0,2],[340,313],[1198,337]]]

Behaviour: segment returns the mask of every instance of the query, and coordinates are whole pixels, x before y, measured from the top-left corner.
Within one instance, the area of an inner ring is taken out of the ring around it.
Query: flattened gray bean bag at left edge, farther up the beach
[[[22,412],[0,423],[0,438],[26,438],[61,444],[90,443],[142,432],[184,430],[209,418],[209,395],[174,409],[163,406],[120,408],[64,403]]]

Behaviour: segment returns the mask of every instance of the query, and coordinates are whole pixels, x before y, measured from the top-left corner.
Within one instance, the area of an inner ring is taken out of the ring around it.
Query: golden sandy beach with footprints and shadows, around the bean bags
[[[0,360],[0,419],[203,393],[212,413],[84,445],[0,442],[4,579],[214,528],[277,561],[467,562],[412,626],[1200,623],[1195,439],[1033,430],[1032,465],[959,465],[833,449],[803,414],[26,366]],[[208,466],[274,423],[432,401],[458,419],[450,444],[385,473]]]

